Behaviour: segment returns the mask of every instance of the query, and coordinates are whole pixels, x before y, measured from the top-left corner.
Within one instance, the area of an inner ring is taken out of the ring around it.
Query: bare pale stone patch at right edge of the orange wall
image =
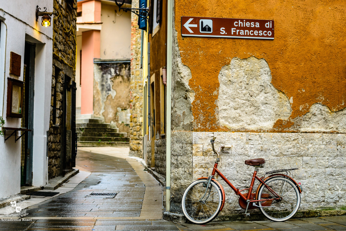
[[[310,111],[303,115],[302,132],[346,132],[346,110],[332,112],[327,106],[315,103]]]

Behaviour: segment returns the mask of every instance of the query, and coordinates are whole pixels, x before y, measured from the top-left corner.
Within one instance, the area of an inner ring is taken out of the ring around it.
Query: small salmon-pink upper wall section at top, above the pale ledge
[[[82,2],[82,21],[83,23],[101,22],[101,1],[92,0]]]

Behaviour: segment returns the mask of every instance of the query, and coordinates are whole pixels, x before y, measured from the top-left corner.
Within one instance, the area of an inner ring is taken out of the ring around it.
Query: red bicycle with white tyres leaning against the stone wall
[[[257,171],[264,167],[265,160],[262,158],[246,160],[245,164],[255,167],[249,188],[239,190],[217,169],[220,161],[220,152],[229,153],[220,146],[218,152],[214,149],[216,137],[210,141],[212,150],[217,154],[217,159],[211,176],[201,177],[186,188],[182,198],[182,209],[185,217],[195,224],[206,224],[219,214],[225,205],[225,191],[221,184],[214,178],[217,173],[236,195],[239,196],[239,205],[245,209],[245,216],[249,216],[248,210],[259,208],[262,214],[272,221],[286,221],[297,213],[300,206],[300,194],[302,187],[292,179],[288,172],[297,168],[278,169],[266,174],[268,177],[257,176]],[[280,174],[279,172],[286,172]],[[256,192],[252,193],[255,179],[260,181]],[[247,192],[243,192],[247,191]]]

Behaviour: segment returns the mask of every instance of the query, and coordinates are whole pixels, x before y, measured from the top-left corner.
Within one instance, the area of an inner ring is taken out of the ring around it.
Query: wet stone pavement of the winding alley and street
[[[29,215],[20,221],[7,220],[16,217],[0,217],[0,231],[346,230],[346,216],[206,225],[162,220],[161,185],[126,152],[128,149],[124,148],[80,149],[76,161],[80,173],[58,189],[62,194],[29,206]],[[65,188],[69,189],[63,191]],[[35,199],[41,198],[28,202]]]

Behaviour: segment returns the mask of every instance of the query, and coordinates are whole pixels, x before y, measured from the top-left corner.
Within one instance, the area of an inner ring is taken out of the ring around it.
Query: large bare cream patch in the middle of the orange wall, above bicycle
[[[264,59],[233,58],[219,73],[218,116],[221,126],[235,130],[269,130],[291,115],[290,101],[271,84]]]

